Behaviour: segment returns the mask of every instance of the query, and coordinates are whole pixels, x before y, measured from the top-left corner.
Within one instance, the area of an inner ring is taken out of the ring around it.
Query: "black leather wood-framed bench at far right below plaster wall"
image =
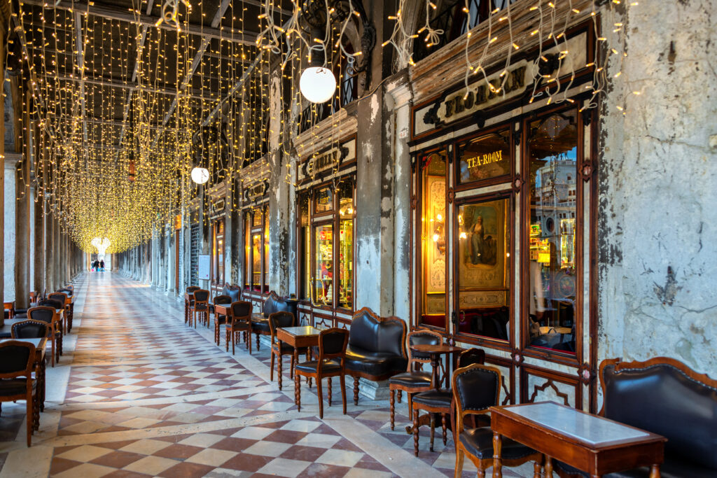
[[[600,364],[600,415],[665,436],[663,478],[717,477],[717,380],[673,358]],[[587,477],[556,462],[563,478]],[[647,478],[650,469],[631,469],[604,478]]]

